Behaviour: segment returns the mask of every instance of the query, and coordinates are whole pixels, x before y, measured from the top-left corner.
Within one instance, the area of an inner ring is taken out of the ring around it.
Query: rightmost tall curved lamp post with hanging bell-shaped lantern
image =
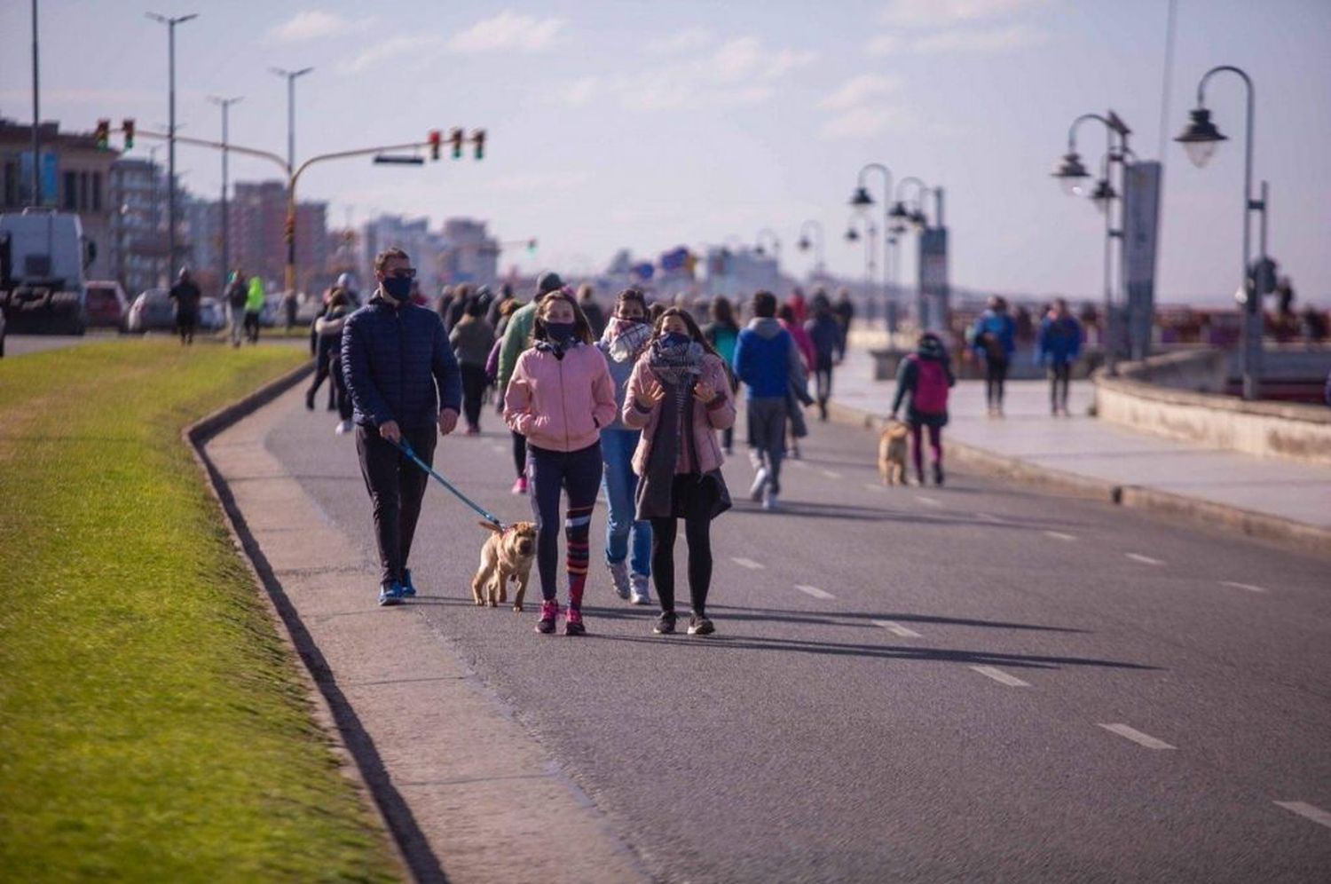
[[[1262,214],[1262,229],[1266,230],[1266,200],[1252,198],[1252,117],[1256,101],[1252,79],[1242,68],[1229,64],[1207,71],[1197,84],[1197,108],[1190,113],[1191,120],[1183,133],[1174,140],[1183,145],[1187,158],[1199,169],[1210,161],[1215,148],[1227,140],[1211,122],[1211,112],[1206,109],[1206,81],[1221,72],[1236,75],[1247,87],[1247,137],[1243,150],[1243,276],[1239,277],[1239,292],[1243,293],[1243,342],[1239,365],[1243,373],[1243,398],[1251,401],[1259,398],[1262,393],[1262,293],[1258,281],[1250,276],[1252,212]],[[1263,236],[1259,258],[1262,262],[1266,260],[1264,240]]]

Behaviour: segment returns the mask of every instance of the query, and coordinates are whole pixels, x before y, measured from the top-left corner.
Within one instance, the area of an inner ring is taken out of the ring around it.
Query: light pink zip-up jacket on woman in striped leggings
[[[615,382],[596,347],[578,342],[558,355],[534,346],[518,357],[503,397],[508,429],[547,451],[580,451],[615,419]]]

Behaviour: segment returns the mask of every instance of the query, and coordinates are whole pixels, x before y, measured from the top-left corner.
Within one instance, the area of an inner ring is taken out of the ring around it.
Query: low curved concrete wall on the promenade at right
[[[1331,409],[1221,395],[1222,350],[1171,353],[1097,371],[1095,414],[1110,423],[1259,457],[1331,465]]]

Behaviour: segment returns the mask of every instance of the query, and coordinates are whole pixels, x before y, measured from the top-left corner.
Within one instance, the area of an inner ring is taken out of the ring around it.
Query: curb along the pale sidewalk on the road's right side
[[[881,431],[888,422],[888,418],[882,415],[839,402],[828,403],[828,418],[837,423],[858,426],[874,433]],[[964,442],[949,441],[948,457],[986,475],[1013,479],[1022,485],[1059,494],[1105,501],[1161,517],[1183,519],[1193,525],[1236,531],[1246,537],[1276,543],[1300,552],[1331,556],[1331,530],[1320,529],[1315,525],[1306,525],[1278,515],[1255,513],[1171,491],[1161,491],[1138,485],[1118,485],[1107,479],[1077,475],[1063,470],[1038,466],[1021,458],[994,454],[993,451]]]

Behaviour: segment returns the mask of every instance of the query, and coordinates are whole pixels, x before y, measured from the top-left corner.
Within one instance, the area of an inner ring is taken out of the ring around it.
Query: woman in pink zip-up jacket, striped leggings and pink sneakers
[[[559,616],[559,493],[568,490],[564,535],[568,545],[568,611],[564,635],[583,635],[582,596],[587,584],[591,511],[600,489],[600,429],[615,419],[615,383],[600,350],[591,346],[587,317],[567,290],[540,302],[532,326],[535,345],[518,357],[504,393],[503,418],[527,437],[527,477],[536,517],[540,572],[538,632],[554,632]]]

